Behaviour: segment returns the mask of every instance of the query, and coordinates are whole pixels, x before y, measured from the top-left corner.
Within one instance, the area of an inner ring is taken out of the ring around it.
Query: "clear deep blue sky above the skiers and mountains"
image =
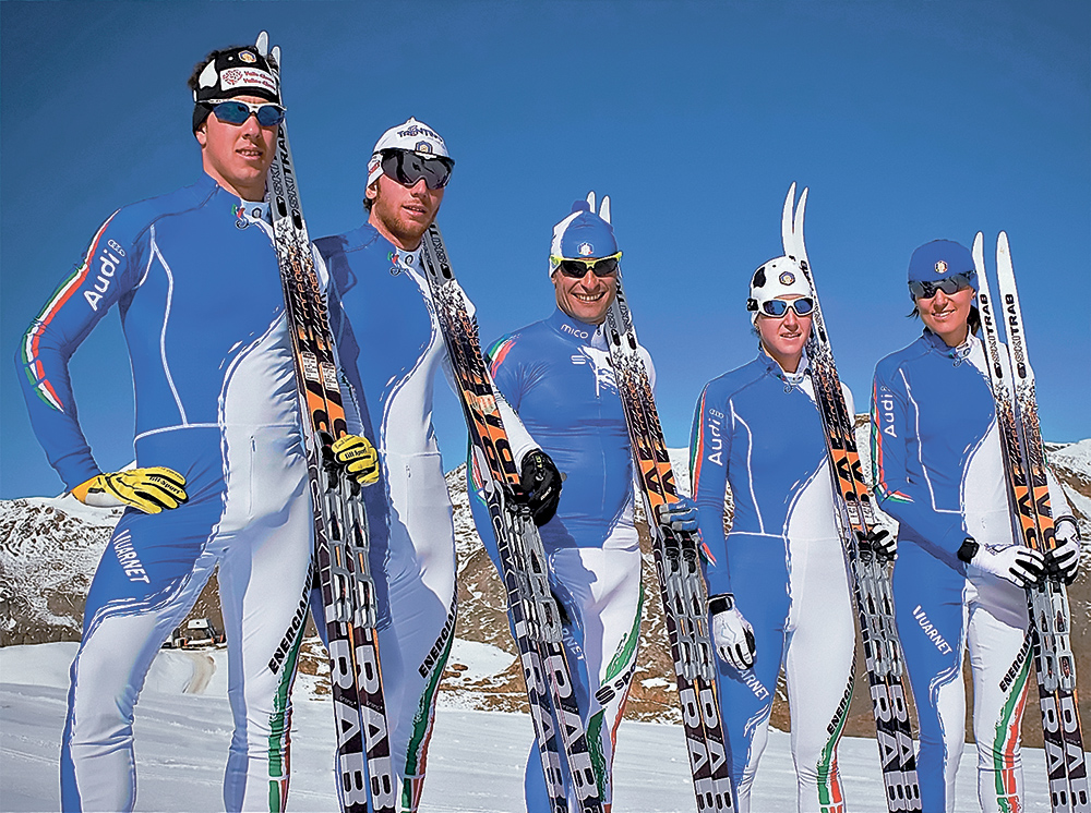
[[[200,170],[185,87],[268,29],[311,234],[357,227],[365,163],[410,114],[457,160],[440,213],[482,338],[553,307],[554,222],[613,198],[668,444],[755,352],[751,274],[789,184],[838,367],[866,408],[912,341],[909,256],[1011,240],[1046,439],[1091,435],[1091,4],[1071,2],[0,2],[0,497],[61,490],[29,432],[19,337],[116,208]],[[215,291],[208,292],[209,296]],[[116,315],[73,357],[105,470],[132,457]],[[437,390],[448,465],[465,429]],[[952,409],[958,405],[952,403]]]

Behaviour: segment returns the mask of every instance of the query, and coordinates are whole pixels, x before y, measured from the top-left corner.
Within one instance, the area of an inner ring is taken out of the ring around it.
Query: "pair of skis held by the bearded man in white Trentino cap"
[[[561,619],[549,588],[546,551],[530,509],[513,499],[519,489],[519,470],[497,406],[501,396],[481,355],[477,320],[469,313],[434,223],[421,241],[421,268],[458,384],[475,473],[484,484],[550,804],[554,813],[568,811],[563,754],[578,810],[601,813],[601,789],[561,643]]]

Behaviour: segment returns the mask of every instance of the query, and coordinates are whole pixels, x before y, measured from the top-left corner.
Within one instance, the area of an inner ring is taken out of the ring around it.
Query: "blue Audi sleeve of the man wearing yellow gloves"
[[[115,213],[20,341],[15,366],[31,426],[67,488],[101,474],[80,427],[69,359],[123,295],[141,267],[139,250]]]

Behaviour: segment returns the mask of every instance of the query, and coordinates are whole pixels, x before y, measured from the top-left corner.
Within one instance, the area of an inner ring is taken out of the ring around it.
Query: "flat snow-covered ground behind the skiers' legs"
[[[459,642],[460,663],[492,674],[494,647]],[[76,644],[0,650],[0,810],[58,809],[58,743],[68,665]],[[135,723],[140,811],[223,810],[220,780],[230,739],[226,653],[164,651],[156,658]],[[200,690],[200,693],[194,693]],[[313,697],[313,679],[295,691],[289,811],[336,811],[328,699]],[[442,695],[441,695],[442,697]],[[422,813],[512,813],[521,810],[529,718],[445,705],[436,715]],[[789,735],[771,732],[754,789],[753,813],[794,810]],[[1048,811],[1045,761],[1023,752],[1027,811]],[[885,813],[875,743],[842,740],[841,775],[850,811]],[[962,757],[958,811],[978,810],[974,759]],[[618,735],[614,810],[694,810],[681,728],[623,723]]]

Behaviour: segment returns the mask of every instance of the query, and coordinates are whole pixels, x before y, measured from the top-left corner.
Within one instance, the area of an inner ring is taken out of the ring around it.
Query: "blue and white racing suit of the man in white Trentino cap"
[[[447,365],[447,352],[428,281],[418,271],[419,250],[397,248],[370,223],[314,244],[343,308],[332,315],[340,362],[357,400],[368,396],[361,418],[373,427],[382,460],[392,623],[380,624],[380,656],[401,810],[412,811],[423,790],[440,677],[455,632],[454,509],[432,428],[435,376]],[[517,421],[505,423],[521,460],[529,438]]]

